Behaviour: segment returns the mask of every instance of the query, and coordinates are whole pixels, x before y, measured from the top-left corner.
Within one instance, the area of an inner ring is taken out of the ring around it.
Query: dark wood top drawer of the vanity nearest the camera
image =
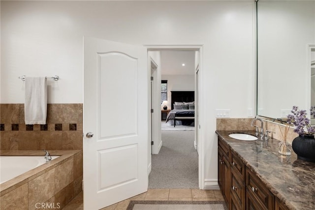
[[[252,197],[259,201],[266,209],[274,210],[274,195],[265,187],[261,180],[252,173],[250,169],[246,170],[246,188],[247,193],[251,194]]]

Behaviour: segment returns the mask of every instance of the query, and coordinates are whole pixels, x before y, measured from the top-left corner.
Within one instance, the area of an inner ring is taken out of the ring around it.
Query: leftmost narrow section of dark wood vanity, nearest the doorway
[[[226,201],[230,199],[229,187],[229,147],[224,141],[218,143],[218,184]]]

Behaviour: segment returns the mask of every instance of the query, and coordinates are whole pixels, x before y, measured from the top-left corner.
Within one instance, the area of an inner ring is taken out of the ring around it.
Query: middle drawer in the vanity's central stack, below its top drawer
[[[241,209],[244,209],[245,204],[245,184],[243,180],[238,175],[238,172],[233,168],[230,168],[230,196],[233,195],[234,203]]]

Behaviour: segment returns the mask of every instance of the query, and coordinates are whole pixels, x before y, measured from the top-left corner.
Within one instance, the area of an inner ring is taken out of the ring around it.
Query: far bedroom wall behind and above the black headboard
[[[194,70],[191,70],[194,72]],[[167,108],[171,109],[171,91],[194,91],[195,75],[162,75],[167,80]]]

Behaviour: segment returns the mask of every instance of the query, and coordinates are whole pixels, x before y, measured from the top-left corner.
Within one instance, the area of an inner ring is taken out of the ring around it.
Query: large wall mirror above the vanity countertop
[[[293,105],[315,106],[315,0],[258,0],[257,114],[286,119]]]

